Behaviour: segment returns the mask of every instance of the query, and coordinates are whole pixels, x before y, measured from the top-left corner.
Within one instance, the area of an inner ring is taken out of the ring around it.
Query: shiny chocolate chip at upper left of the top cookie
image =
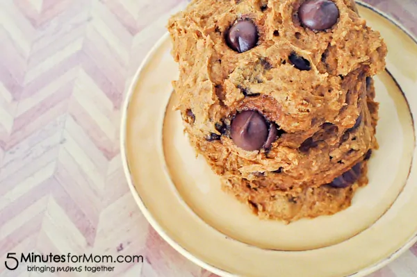
[[[242,20],[234,24],[234,26],[231,26],[226,40],[231,49],[243,53],[256,46],[258,42],[258,31],[252,22]]]

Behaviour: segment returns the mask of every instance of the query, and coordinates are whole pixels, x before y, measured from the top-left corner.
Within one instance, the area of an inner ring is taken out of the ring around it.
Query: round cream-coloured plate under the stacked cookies
[[[416,242],[417,42],[371,8],[359,12],[389,47],[387,71],[375,78],[380,149],[370,183],[347,210],[288,226],[258,219],[220,190],[172,109],[169,37],[149,53],[124,106],[122,155],[140,209],[177,251],[220,276],[364,276]]]

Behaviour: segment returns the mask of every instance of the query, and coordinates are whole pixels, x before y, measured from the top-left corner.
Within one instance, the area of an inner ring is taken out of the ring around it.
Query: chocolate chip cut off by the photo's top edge
[[[330,0],[307,0],[300,6],[298,16],[304,26],[324,31],[336,24],[339,10]]]

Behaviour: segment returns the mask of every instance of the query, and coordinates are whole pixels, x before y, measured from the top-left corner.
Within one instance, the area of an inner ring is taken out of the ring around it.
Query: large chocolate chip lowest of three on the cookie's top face
[[[265,118],[254,110],[240,112],[231,121],[231,140],[247,151],[262,148],[268,139],[268,126]]]

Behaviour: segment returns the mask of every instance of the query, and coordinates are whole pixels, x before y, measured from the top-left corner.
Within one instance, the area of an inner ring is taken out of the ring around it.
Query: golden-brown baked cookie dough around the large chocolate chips
[[[325,31],[303,26],[303,2],[194,0],[167,25],[179,65],[177,109],[190,143],[226,192],[259,217],[286,223],[333,215],[368,183],[366,163],[378,147],[372,77],[386,56],[354,1],[333,0],[340,16]],[[258,35],[243,53],[226,39],[241,20],[253,22]],[[310,69],[297,69],[294,56]],[[231,122],[245,110],[277,126],[268,148],[246,151],[231,139]],[[354,184],[332,185],[355,165]]]

